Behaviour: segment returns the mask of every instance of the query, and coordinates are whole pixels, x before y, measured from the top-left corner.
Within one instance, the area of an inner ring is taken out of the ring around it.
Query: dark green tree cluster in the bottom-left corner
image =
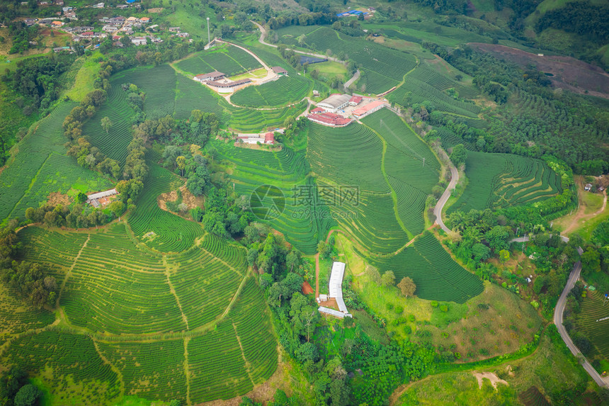
[[[28,373],[16,366],[11,367],[0,376],[0,405],[34,406],[42,391],[29,383]]]

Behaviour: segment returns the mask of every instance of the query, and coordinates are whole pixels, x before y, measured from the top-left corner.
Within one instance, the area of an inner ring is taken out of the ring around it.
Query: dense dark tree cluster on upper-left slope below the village
[[[73,61],[71,55],[28,58],[19,61],[15,72],[4,75],[2,80],[10,82],[13,90],[28,99],[23,114],[30,115],[36,108],[49,108],[57,100],[59,76]]]

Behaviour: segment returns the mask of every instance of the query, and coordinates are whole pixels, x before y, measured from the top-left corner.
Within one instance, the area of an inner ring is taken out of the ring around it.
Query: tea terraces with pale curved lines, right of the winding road
[[[562,193],[559,176],[539,159],[512,154],[468,152],[469,184],[448,213],[535,203]]]

